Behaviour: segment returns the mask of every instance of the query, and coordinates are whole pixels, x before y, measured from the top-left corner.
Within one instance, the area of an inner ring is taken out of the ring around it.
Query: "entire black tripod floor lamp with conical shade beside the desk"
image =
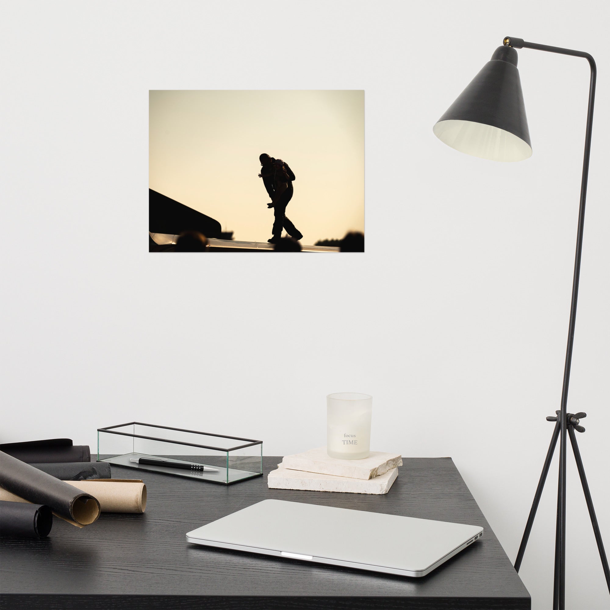
[[[547,420],[556,422],[548,448],[547,458],[542,468],[542,475],[534,495],[534,502],[529,512],[528,522],[525,526],[523,539],[517,553],[515,570],[519,567],[525,553],[536,509],[542,495],[542,488],[548,474],[548,468],[553,458],[553,453],[559,442],[559,489],[557,497],[557,529],[555,537],[555,572],[553,609],[564,610],[565,608],[565,458],[567,454],[567,436],[570,437],[578,474],[583,485],[584,497],[587,501],[589,516],[600,551],[601,564],[603,565],[606,583],[610,591],[610,570],[608,559],[601,541],[600,528],[593,508],[593,502],[589,492],[589,485],[584,473],[583,461],[576,443],[574,431],[584,432],[580,426],[580,419],[586,417],[584,413],[568,413],[567,398],[570,383],[570,364],[572,362],[572,345],[574,342],[574,327],[576,323],[576,301],[578,300],[578,278],[580,276],[580,259],[583,249],[584,228],[584,204],[587,196],[587,176],[589,175],[589,153],[591,148],[591,129],[593,124],[593,104],[595,100],[595,62],[588,53],[561,49],[556,46],[537,45],[525,42],[521,38],[506,37],[504,46],[498,47],[492,55],[492,59],[483,66],[470,82],[468,87],[462,91],[456,101],[451,104],[447,112],[440,117],[434,125],[434,134],[448,146],[461,152],[466,152],[475,157],[491,159],[495,161],[521,161],[532,154],[531,142],[529,140],[528,121],[525,116],[525,105],[523,104],[523,93],[519,70],[517,70],[517,51],[515,49],[537,49],[538,51],[549,51],[562,55],[584,57],[591,68],[591,80],[589,85],[589,108],[587,110],[587,129],[584,140],[584,162],[583,180],[580,191],[580,209],[578,212],[578,232],[576,234],[576,259],[574,263],[574,279],[572,283],[572,306],[570,307],[570,323],[568,331],[568,343],[565,353],[564,382],[561,392],[561,410],[556,411],[554,417]]]

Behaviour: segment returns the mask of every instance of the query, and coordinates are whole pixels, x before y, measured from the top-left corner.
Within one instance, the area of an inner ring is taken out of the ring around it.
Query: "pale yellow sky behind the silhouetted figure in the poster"
[[[240,241],[271,237],[259,155],[295,173],[302,243],[364,231],[364,91],[150,91],[149,187]]]

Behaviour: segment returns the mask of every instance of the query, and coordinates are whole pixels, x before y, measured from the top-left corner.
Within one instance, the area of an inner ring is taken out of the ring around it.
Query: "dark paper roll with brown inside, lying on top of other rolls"
[[[93,496],[4,451],[0,451],[0,486],[32,504],[46,504],[57,517],[77,527],[89,525],[99,517],[99,502]],[[19,501],[5,497],[0,500]]]

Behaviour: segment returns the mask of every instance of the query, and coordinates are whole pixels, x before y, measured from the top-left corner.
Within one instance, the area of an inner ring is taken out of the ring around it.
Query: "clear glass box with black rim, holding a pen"
[[[98,462],[230,485],[262,476],[262,440],[130,422],[98,428]]]

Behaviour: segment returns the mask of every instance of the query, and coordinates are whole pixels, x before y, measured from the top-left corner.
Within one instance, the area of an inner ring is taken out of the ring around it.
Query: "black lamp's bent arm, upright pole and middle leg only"
[[[576,257],[574,261],[574,276],[572,281],[572,304],[570,306],[570,323],[568,330],[568,343],[565,351],[564,381],[561,391],[561,441],[559,444],[559,498],[557,512],[557,536],[555,541],[555,579],[553,608],[565,608],[565,468],[566,468],[566,432],[567,432],[567,400],[570,384],[570,366],[572,365],[572,347],[574,344],[574,328],[576,325],[576,303],[578,301],[578,280],[580,278],[580,259],[583,252],[584,206],[587,198],[587,178],[589,177],[589,155],[591,151],[591,132],[593,128],[593,106],[595,102],[595,80],[597,67],[595,60],[589,53],[562,49],[558,46],[539,45],[526,42],[523,38],[507,36],[504,38],[505,46],[515,49],[536,49],[573,57],[584,57],[589,62],[591,77],[589,84],[589,106],[587,107],[587,127],[584,138],[583,178],[580,187],[580,207],[578,209],[578,232],[576,233]]]

